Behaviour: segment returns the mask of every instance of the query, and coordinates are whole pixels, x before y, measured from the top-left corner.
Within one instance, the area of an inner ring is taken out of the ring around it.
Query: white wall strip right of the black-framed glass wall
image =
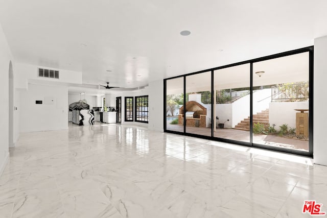
[[[314,40],[313,160],[327,165],[327,36]]]

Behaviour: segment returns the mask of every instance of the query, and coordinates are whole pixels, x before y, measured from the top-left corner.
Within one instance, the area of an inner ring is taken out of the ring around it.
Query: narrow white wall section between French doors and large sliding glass
[[[149,129],[164,132],[164,81],[149,83]]]

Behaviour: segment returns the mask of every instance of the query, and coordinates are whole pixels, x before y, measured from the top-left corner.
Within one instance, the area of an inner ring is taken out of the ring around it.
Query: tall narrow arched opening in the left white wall
[[[12,63],[9,62],[9,122],[8,122],[9,147],[14,147],[14,72]]]

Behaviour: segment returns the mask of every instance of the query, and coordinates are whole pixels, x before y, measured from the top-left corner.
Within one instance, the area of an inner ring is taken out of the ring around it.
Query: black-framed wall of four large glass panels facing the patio
[[[312,156],[313,46],[164,80],[164,130]]]

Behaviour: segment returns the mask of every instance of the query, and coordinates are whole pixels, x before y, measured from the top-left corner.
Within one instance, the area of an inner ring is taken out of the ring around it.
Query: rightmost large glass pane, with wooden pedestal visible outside
[[[309,53],[253,63],[253,143],[309,151]]]

